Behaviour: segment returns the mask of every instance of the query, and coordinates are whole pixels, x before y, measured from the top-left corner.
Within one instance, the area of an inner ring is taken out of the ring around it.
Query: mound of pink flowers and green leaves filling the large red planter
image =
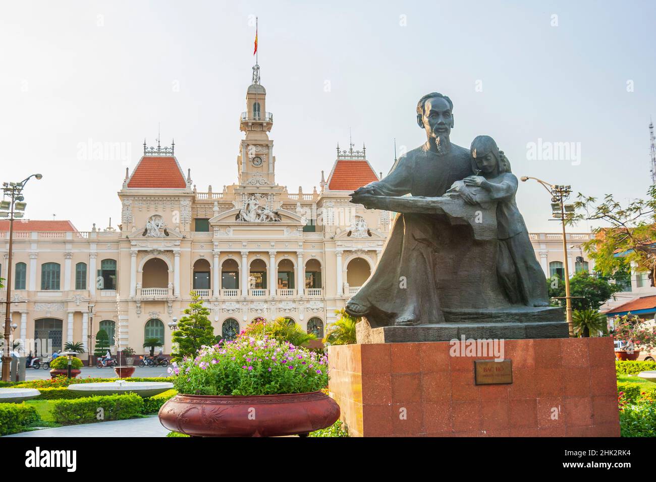
[[[203,348],[178,366],[173,386],[195,395],[275,395],[315,392],[328,384],[328,359],[314,351],[262,336],[237,336]]]

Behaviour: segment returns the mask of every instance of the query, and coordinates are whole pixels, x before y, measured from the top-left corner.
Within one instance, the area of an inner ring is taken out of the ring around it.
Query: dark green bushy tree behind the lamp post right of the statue
[[[549,296],[565,296],[565,283],[560,278],[546,280]],[[593,276],[588,271],[579,271],[569,279],[569,291],[571,296],[582,296],[572,298],[572,310],[594,310],[598,311],[609,298],[621,290],[621,287],[609,283],[605,278]],[[565,300],[558,300],[560,306],[565,305]]]

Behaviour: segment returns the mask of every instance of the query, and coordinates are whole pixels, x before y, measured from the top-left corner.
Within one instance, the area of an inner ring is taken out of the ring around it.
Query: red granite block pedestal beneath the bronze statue
[[[449,342],[329,347],[352,436],[619,437],[613,340],[505,340],[512,384],[476,385]]]

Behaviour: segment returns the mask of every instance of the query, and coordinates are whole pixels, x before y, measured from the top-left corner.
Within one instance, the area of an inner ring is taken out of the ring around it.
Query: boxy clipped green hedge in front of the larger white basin
[[[141,414],[144,401],[136,393],[99,395],[75,400],[58,400],[52,405],[52,418],[62,425],[91,424],[125,420]],[[102,409],[99,411],[98,409]],[[98,418],[102,415],[102,418]]]

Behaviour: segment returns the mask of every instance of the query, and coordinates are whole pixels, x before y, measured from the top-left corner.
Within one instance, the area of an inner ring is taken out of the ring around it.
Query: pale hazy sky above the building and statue
[[[452,142],[493,136],[518,177],[623,203],[651,184],[654,2],[3,0],[0,180],[43,174],[26,217],[116,226],[125,167],[158,129],[199,191],[234,184],[256,16],[290,191],[318,187],[349,136],[386,174],[395,138],[398,153],[425,141],[432,91],[453,100]],[[537,182],[517,203],[529,231],[560,228]]]

